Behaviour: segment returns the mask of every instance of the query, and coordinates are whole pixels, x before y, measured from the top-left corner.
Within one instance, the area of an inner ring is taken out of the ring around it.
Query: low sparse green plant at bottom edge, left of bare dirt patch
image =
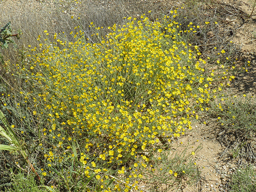
[[[172,150],[163,150],[159,157],[152,158],[154,166],[144,169],[144,186],[149,191],[162,192],[174,191],[177,186],[184,188],[198,182],[200,171],[194,162],[194,154],[201,148],[198,146],[191,152],[192,147],[180,144]]]

